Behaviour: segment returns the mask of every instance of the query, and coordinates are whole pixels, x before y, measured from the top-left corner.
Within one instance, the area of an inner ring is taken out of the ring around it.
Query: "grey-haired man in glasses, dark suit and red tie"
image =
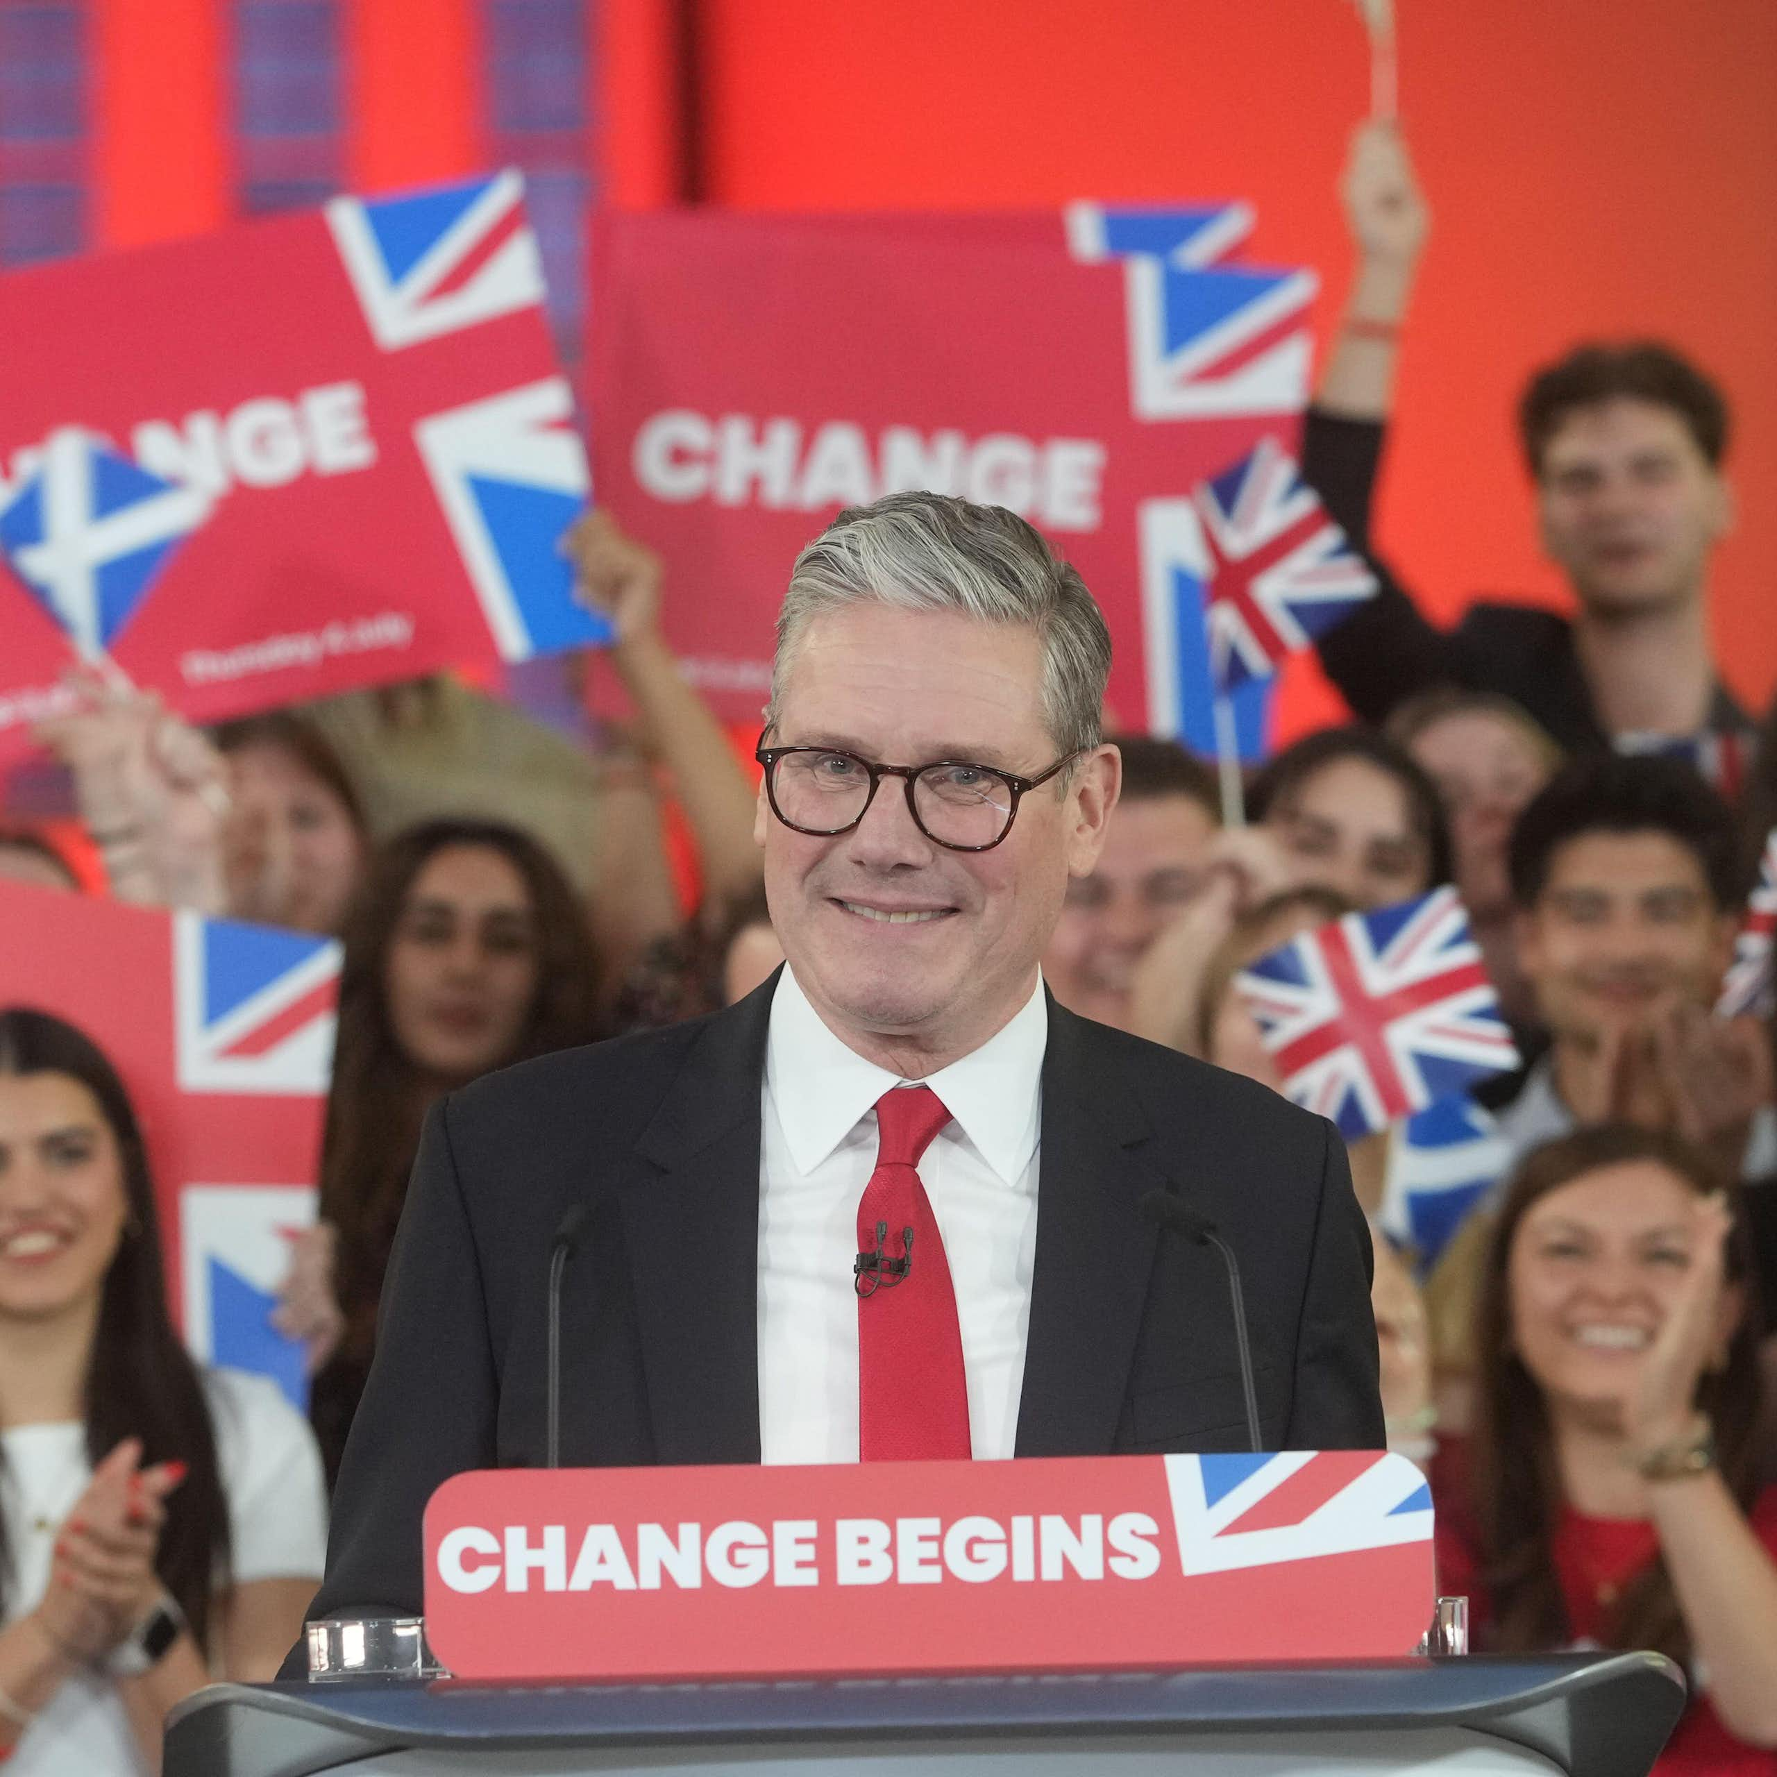
[[[757,835],[785,968],[430,1118],[313,1615],[418,1610],[448,1475],[567,1464],[1379,1446],[1370,1242],[1333,1128],[1057,1008],[1038,958],[1120,761],[1111,643],[1022,519],[841,517],[778,620]]]

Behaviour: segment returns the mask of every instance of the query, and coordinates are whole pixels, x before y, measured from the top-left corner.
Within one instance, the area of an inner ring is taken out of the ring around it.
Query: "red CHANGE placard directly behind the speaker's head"
[[[1247,220],[602,217],[595,482],[666,556],[689,677],[755,716],[796,551],[842,505],[929,487],[1043,530],[1111,622],[1118,721],[1210,748],[1201,574],[1171,521],[1260,437],[1292,441],[1310,354],[1313,279],[1217,258]]]

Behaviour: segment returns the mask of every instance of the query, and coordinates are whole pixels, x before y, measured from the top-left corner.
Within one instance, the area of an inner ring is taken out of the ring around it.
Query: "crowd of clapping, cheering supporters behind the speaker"
[[[1359,135],[1345,203],[1358,275],[1303,455],[1381,579],[1320,643],[1359,720],[1276,752],[1239,828],[1210,766],[1123,737],[1045,979],[1276,1088],[1240,968],[1461,890],[1525,1066],[1462,1107],[1461,1214],[1414,1189],[1409,1123],[1351,1151],[1390,1441],[1432,1477],[1441,1589],[1471,1598],[1482,1649],[1674,1654],[1697,1701],[1661,1768],[1777,1772],[1777,1070],[1768,1016],[1715,1013],[1777,821],[1777,713],[1759,727],[1709,654],[1727,409],[1658,343],[1551,363],[1519,419],[1573,617],[1475,602],[1436,627],[1370,535],[1427,220],[1395,130]],[[0,1747],[20,1768],[133,1770],[208,1672],[267,1677],[295,1640],[428,1107],[729,1004],[782,960],[753,780],[661,640],[657,558],[606,517],[569,546],[631,709],[597,748],[451,679],[215,734],[85,679],[39,732],[87,849],[14,821],[0,874],[336,933],[345,972],[320,1226],[277,1310],[307,1345],[309,1425],[185,1356],[123,1082],[82,1032],[0,1004],[0,1239],[84,1253],[68,1299],[34,1297],[28,1267],[0,1285]],[[144,1665],[156,1615],[172,1653]]]

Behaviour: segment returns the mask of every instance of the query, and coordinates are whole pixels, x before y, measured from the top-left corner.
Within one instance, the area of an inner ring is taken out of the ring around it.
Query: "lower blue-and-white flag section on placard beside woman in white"
[[[315,1224],[313,1185],[187,1185],[179,1194],[185,1342],[203,1363],[270,1375],[302,1407],[302,1345],[272,1326],[290,1242]]]

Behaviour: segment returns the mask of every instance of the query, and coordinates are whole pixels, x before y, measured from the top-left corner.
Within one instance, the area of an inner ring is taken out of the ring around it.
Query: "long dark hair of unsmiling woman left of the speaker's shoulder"
[[[531,903],[537,995],[512,1054],[498,1064],[570,1048],[599,1034],[586,908],[535,839],[498,821],[446,819],[412,826],[379,848],[345,922],[339,1036],[322,1153],[322,1215],[339,1230],[347,1356],[354,1345],[368,1347],[373,1333],[419,1125],[437,1096],[437,1084],[414,1066],[389,1018],[384,984],[389,945],[419,873],[455,846],[498,851],[524,878]]]

